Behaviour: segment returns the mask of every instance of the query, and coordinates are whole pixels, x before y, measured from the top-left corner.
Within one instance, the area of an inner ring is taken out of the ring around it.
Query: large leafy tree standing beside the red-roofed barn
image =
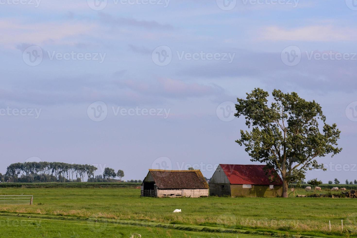
[[[266,163],[276,169],[283,180],[283,197],[287,197],[289,182],[301,181],[307,170],[323,169],[317,157],[341,152],[337,147],[340,130],[326,123],[321,106],[306,101],[297,93],[269,93],[255,88],[246,99],[237,98],[236,117],[245,116],[250,131],[241,130],[236,142],[245,147],[251,161]],[[319,126],[319,122],[322,126]]]

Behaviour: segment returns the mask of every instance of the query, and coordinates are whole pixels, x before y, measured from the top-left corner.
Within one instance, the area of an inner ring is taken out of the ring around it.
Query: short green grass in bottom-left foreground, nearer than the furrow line
[[[238,237],[223,232],[195,232],[106,222],[33,218],[0,218],[0,237]],[[243,238],[262,235],[239,234]]]

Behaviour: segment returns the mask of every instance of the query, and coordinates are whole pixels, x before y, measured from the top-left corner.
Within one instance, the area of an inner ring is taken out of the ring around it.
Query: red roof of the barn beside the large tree
[[[282,185],[277,172],[265,171],[261,164],[220,164],[231,184]],[[272,181],[276,178],[275,181]]]

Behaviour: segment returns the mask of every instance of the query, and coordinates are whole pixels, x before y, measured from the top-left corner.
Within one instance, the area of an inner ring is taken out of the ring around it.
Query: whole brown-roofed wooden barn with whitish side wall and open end
[[[149,169],[141,184],[145,197],[208,196],[208,184],[200,170]]]

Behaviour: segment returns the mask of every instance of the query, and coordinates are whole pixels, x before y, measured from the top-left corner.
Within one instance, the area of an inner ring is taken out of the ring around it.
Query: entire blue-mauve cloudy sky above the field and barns
[[[124,170],[251,164],[237,97],[320,103],[341,130],[328,171],[357,179],[354,0],[0,0],[0,172],[60,161]]]

